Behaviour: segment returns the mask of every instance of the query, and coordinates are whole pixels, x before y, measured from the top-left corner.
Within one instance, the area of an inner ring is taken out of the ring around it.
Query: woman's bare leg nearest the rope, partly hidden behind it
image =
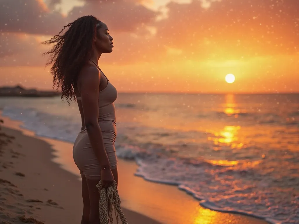
[[[118,172],[117,168],[112,170],[112,174],[116,183],[118,183]],[[100,214],[99,214],[99,202],[100,194],[97,188],[97,184],[100,180],[86,179],[88,192],[89,192],[89,201],[90,201],[90,216],[89,224],[100,224]]]

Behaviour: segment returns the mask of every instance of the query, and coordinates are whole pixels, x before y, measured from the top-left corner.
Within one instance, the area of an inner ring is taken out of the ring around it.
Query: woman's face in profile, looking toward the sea
[[[105,23],[100,22],[97,24],[97,35],[95,37],[95,46],[99,53],[111,53],[113,47],[113,38],[109,35],[108,27]]]

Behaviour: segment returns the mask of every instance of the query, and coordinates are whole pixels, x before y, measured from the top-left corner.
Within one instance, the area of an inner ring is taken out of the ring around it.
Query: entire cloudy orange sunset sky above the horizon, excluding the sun
[[[39,43],[92,14],[114,38],[99,65],[119,92],[299,92],[297,0],[15,1],[0,8],[1,85],[51,89]]]

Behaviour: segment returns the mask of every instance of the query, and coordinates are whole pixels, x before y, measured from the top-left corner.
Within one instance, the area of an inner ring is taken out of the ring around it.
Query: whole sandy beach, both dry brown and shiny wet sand
[[[0,155],[0,224],[80,223],[81,182],[72,144],[36,137],[4,120],[2,131],[14,136]],[[203,208],[176,186],[147,182],[134,176],[137,165],[119,160],[119,194],[129,224],[265,224],[253,217]],[[149,218],[151,217],[151,218]]]

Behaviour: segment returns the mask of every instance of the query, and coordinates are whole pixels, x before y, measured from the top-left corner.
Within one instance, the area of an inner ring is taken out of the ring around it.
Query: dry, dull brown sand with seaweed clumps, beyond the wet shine
[[[1,125],[1,133],[13,139],[1,148],[0,223],[80,223],[78,177],[51,161],[51,145],[25,132]],[[159,224],[126,208],[123,212],[129,223]]]

